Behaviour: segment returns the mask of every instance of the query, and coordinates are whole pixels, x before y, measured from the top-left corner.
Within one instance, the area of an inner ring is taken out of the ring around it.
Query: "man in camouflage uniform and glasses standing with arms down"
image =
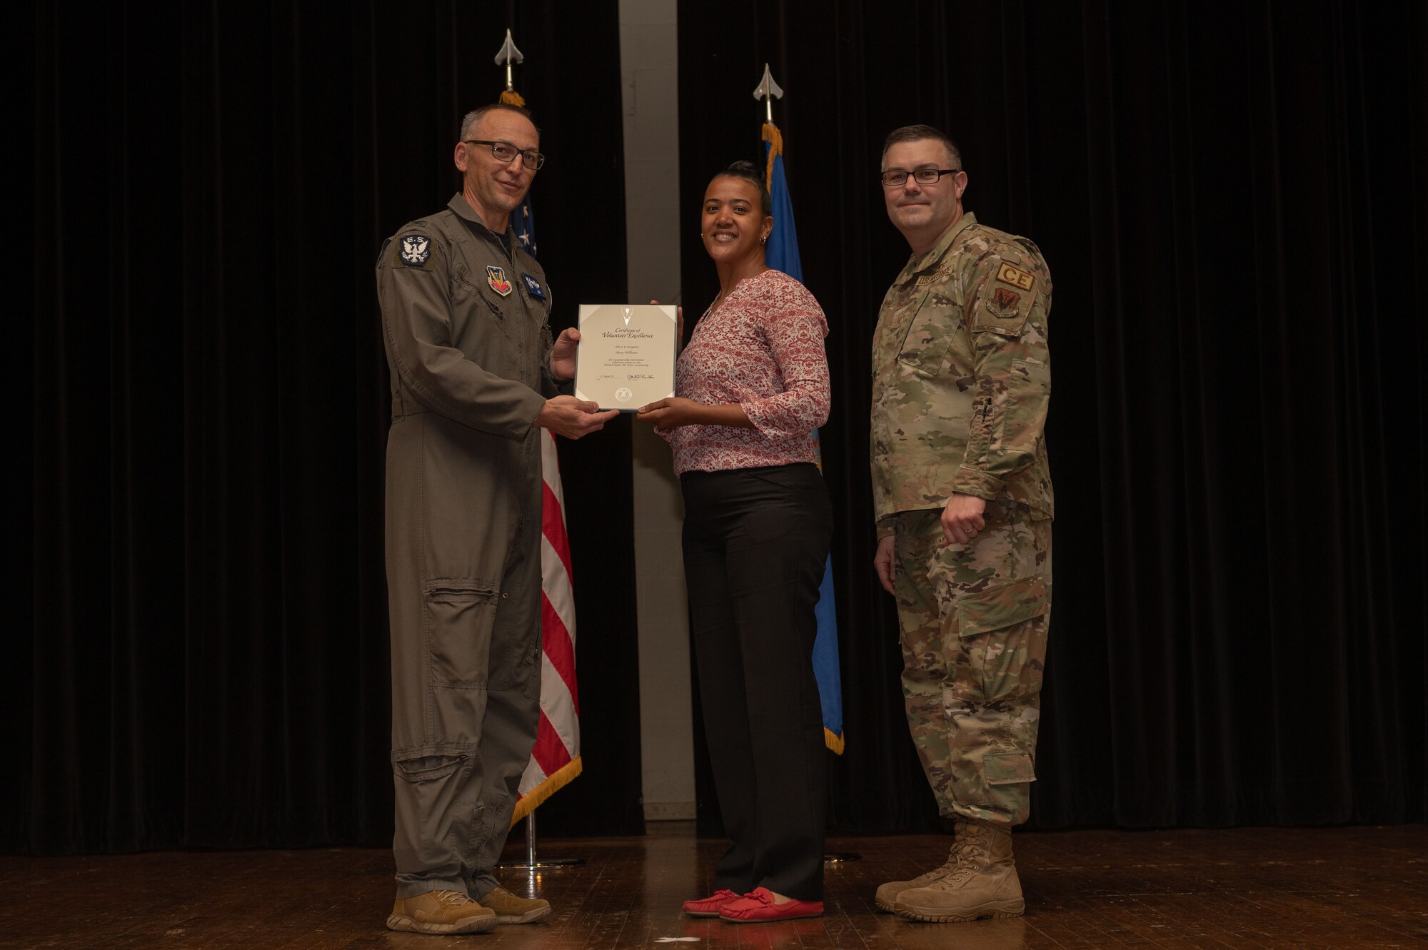
[[[908,726],[955,837],[941,867],[883,884],[914,920],[1022,911],[1011,829],[1027,820],[1051,609],[1051,274],[1037,245],[962,214],[947,136],[883,150],[912,258],[873,339],[874,568],[897,598]]]

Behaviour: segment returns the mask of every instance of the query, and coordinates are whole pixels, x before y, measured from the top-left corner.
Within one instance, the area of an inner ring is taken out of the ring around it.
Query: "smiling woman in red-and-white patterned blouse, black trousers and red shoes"
[[[674,449],[704,732],[731,844],[694,916],[823,913],[825,752],[814,605],[833,532],[814,429],[828,418],[828,321],[764,264],[758,170],[710,181],[701,237],[720,292],[680,354],[675,397],[640,409]]]

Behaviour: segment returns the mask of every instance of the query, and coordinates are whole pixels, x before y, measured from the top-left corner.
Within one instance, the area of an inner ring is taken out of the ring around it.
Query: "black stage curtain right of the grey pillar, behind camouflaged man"
[[[935,824],[871,576],[865,418],[877,307],[908,252],[878,157],[920,121],[958,141],[965,207],[1034,238],[1055,278],[1032,824],[1428,817],[1424,4],[731,0],[680,17],[685,304],[717,290],[700,197],[761,155],[767,61],[833,324],[834,826]]]

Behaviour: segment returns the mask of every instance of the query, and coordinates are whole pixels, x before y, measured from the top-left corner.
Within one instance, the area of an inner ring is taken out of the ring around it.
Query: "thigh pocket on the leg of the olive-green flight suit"
[[[496,583],[478,578],[424,582],[430,739],[476,743],[486,716]]]

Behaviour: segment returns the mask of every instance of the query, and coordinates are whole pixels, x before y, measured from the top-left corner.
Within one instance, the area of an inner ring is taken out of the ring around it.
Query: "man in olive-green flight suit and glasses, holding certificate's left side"
[[[555,391],[575,374],[580,334],[551,341],[550,285],[510,225],[538,147],[524,108],[467,114],[461,193],[377,260],[391,371],[393,930],[550,914],[493,876],[540,722],[540,439],[617,414]]]

